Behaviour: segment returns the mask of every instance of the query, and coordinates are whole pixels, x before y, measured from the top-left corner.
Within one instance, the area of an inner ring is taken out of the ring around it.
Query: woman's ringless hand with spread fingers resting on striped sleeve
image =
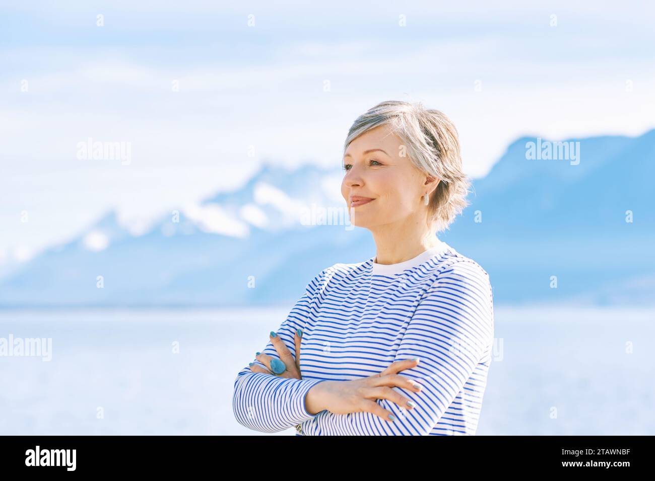
[[[408,391],[419,393],[421,385],[415,381],[400,376],[398,372],[411,369],[419,364],[419,359],[396,361],[380,374],[352,381],[324,381],[316,383],[305,395],[305,408],[309,414],[318,414],[328,410],[333,414],[349,414],[351,412],[371,412],[375,416],[395,421],[391,411],[384,409],[375,402],[376,399],[388,399],[398,406],[412,409],[415,404],[392,387],[402,387]]]

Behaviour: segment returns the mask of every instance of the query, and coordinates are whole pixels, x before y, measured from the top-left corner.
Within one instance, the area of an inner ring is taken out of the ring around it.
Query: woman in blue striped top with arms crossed
[[[468,204],[457,130],[421,103],[355,120],[341,193],[377,255],[307,285],[234,383],[239,423],[303,435],[474,435],[493,344],[479,264],[438,240]]]

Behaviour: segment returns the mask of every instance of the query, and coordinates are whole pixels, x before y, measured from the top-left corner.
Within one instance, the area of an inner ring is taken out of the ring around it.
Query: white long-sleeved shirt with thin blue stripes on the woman
[[[442,241],[398,264],[376,260],[335,264],[310,281],[276,331],[295,356],[293,333],[303,330],[302,379],[240,370],[233,395],[240,424],[311,436],[475,435],[494,337],[489,275]],[[279,357],[271,342],[262,352]],[[316,383],[373,376],[412,357],[419,364],[399,374],[422,390],[393,389],[415,408],[377,400],[396,421],[370,412],[307,412],[305,395]]]

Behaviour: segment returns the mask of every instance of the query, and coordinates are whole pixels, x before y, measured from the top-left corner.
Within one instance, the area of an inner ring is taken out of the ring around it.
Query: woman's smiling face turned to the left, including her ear
[[[428,177],[412,164],[402,147],[400,137],[387,126],[369,130],[348,145],[341,195],[351,224],[373,228],[425,221],[422,196],[432,192],[436,183],[425,184]],[[365,199],[358,201],[357,196]]]

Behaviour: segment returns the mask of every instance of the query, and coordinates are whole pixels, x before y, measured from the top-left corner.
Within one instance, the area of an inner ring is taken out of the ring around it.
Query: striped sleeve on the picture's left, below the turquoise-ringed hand
[[[305,328],[312,299],[325,272],[323,270],[310,281],[305,287],[305,294],[299,298],[286,320],[276,330],[294,357],[293,334],[296,329]],[[271,342],[261,352],[280,358]],[[253,359],[253,363],[266,367],[257,359]],[[276,433],[289,429],[317,416],[307,412],[305,395],[314,384],[319,382],[322,380],[286,379],[272,374],[252,372],[250,366],[246,366],[238,372],[234,381],[232,400],[234,417],[241,425],[263,433]]]

